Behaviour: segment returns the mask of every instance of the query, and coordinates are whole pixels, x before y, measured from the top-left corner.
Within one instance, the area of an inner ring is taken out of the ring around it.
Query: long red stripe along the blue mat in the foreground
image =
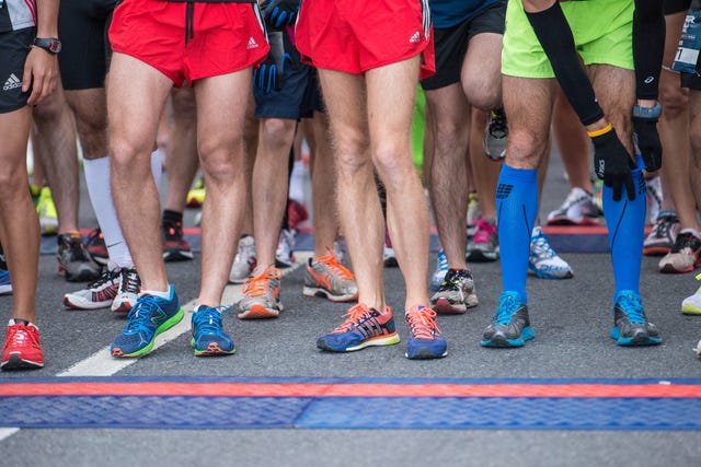
[[[0,385],[0,397],[21,396],[701,398],[701,386],[245,383],[8,383]]]

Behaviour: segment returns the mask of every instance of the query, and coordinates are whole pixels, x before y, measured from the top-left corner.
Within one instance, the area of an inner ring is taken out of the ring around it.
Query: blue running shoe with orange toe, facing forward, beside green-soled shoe
[[[193,339],[189,345],[195,349],[195,357],[230,355],[235,353],[233,340],[221,330],[223,316],[229,314],[225,306],[199,305],[193,313]]]

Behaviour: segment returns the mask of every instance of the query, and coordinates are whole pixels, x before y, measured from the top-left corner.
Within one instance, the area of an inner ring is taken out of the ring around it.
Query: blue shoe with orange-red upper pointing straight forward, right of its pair
[[[406,312],[406,358],[410,360],[441,359],[448,354],[448,342],[436,323],[436,312],[422,305]]]

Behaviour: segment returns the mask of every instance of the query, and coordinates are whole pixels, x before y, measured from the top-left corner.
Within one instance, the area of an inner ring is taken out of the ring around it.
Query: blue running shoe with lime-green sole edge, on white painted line
[[[112,357],[141,357],[153,349],[156,336],[172,328],[183,319],[185,313],[180,306],[173,285],[170,297],[139,295],[129,312],[126,327],[114,338]]]

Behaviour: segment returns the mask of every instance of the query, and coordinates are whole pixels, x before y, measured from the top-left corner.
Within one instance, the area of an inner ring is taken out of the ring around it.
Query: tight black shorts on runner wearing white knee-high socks
[[[112,47],[107,31],[117,0],[66,0],[58,10],[58,55],[66,90],[104,87]]]

